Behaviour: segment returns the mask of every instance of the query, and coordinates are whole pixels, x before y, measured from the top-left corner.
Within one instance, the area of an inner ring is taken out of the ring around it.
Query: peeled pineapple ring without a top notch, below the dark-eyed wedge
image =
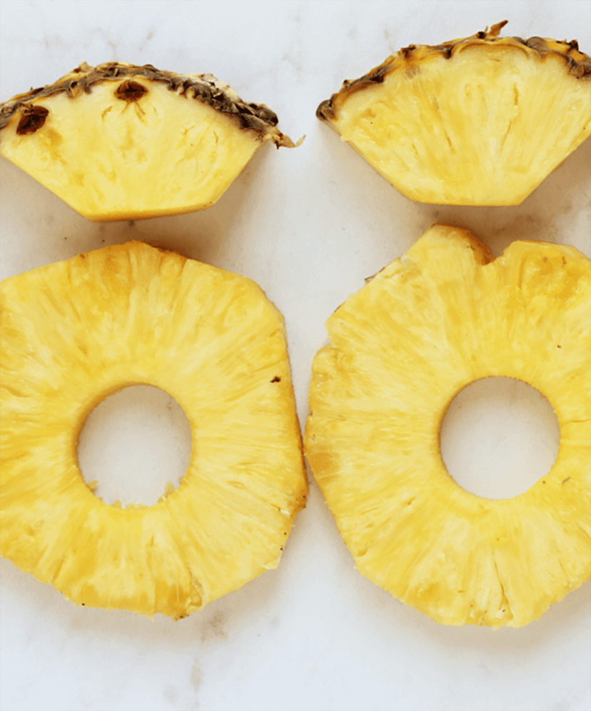
[[[131,242],[5,279],[0,303],[1,555],[76,605],[175,619],[278,565],[307,482],[283,319],[256,284]],[[178,489],[123,509],[76,440],[137,383],[181,404],[193,449]]]

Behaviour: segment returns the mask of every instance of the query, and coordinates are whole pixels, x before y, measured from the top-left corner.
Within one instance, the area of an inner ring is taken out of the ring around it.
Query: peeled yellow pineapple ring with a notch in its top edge
[[[435,224],[328,319],[304,451],[358,570],[446,625],[520,627],[591,573],[591,262],[514,242],[492,259]],[[554,466],[525,493],[460,488],[439,432],[460,389],[507,376],[555,408]]]

